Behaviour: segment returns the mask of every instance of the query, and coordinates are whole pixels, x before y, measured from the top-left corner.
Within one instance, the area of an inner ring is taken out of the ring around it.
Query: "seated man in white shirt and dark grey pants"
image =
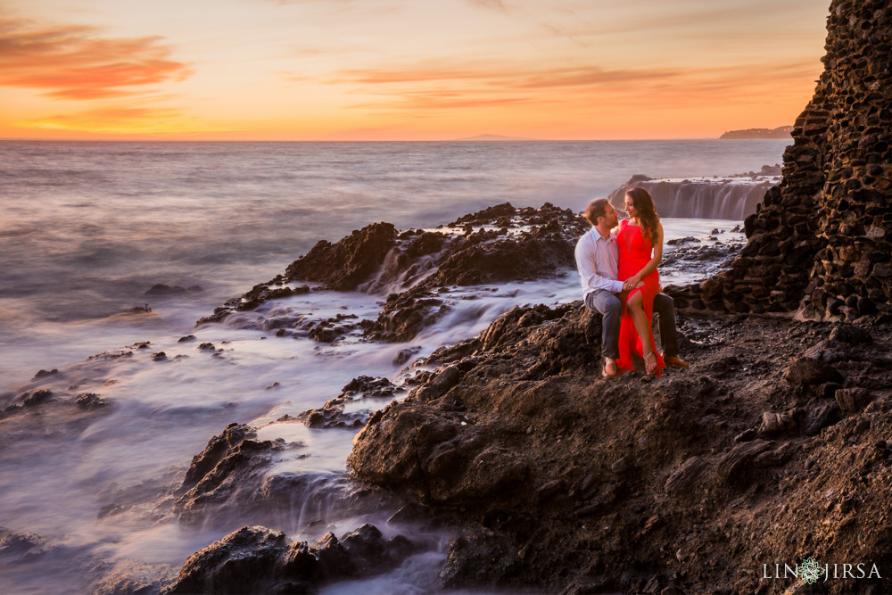
[[[603,376],[617,376],[619,358],[619,326],[623,315],[623,282],[616,280],[619,246],[610,230],[619,224],[619,215],[606,198],[589,203],[585,219],[591,229],[576,243],[576,269],[582,278],[583,301],[590,310],[603,316],[601,323],[601,354],[604,356]],[[643,283],[638,286],[644,285]],[[654,312],[660,318],[660,340],[663,361],[670,368],[688,368],[678,357],[678,330],[675,328],[675,302],[665,293],[654,298]]]

